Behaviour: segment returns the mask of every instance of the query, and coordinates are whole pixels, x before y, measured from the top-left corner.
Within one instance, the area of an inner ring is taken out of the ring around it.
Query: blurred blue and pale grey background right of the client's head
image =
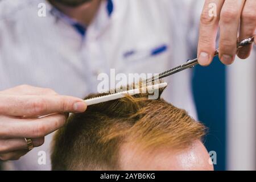
[[[256,55],[229,66],[214,59],[193,69],[199,120],[208,126],[205,145],[216,151],[215,170],[256,169]]]

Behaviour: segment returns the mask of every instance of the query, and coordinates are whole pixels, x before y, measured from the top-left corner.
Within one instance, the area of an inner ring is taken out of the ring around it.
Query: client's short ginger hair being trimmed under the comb
[[[52,169],[116,170],[122,143],[131,141],[144,150],[162,146],[181,149],[203,137],[205,127],[185,110],[160,98],[147,97],[148,94],[127,96],[72,114],[55,134]]]

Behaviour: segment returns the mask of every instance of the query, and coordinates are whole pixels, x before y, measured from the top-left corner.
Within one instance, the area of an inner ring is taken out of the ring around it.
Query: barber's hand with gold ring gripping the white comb
[[[69,112],[83,112],[80,98],[60,96],[51,89],[22,85],[0,92],[0,160],[16,160],[28,152],[24,138],[34,147],[44,136],[64,125]],[[47,115],[47,116],[45,116]],[[45,116],[45,117],[40,117]]]

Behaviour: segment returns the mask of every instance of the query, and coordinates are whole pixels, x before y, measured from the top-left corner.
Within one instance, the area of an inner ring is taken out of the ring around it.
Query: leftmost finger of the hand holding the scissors
[[[209,65],[213,59],[220,20],[220,11],[224,0],[205,0],[200,19],[197,57],[199,64]]]

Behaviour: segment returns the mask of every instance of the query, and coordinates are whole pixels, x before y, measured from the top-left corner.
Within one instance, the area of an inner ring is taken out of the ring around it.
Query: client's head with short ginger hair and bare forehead
[[[91,95],[87,98],[97,95]],[[53,170],[210,170],[205,127],[147,94],[88,106],[53,140]]]

